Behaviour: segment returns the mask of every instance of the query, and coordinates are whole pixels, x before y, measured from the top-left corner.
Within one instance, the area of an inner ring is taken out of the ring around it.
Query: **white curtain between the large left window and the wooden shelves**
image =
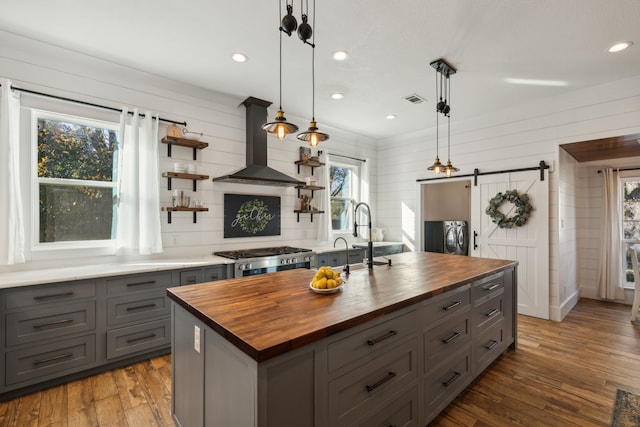
[[[120,116],[118,255],[162,252],[158,120],[123,108]]]

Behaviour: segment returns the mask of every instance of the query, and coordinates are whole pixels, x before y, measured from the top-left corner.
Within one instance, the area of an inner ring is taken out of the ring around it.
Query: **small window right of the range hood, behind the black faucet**
[[[360,166],[331,161],[329,168],[331,197],[331,228],[333,231],[353,231],[353,200],[359,199]]]

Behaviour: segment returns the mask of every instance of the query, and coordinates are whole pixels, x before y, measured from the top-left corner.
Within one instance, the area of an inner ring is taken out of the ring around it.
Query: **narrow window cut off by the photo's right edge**
[[[622,179],[622,239],[625,258],[625,287],[633,287],[633,269],[628,248],[640,251],[640,177]]]

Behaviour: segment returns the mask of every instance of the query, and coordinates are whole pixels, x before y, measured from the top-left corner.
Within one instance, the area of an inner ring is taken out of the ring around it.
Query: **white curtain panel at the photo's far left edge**
[[[20,194],[20,95],[0,79],[0,265],[23,263],[24,215]]]

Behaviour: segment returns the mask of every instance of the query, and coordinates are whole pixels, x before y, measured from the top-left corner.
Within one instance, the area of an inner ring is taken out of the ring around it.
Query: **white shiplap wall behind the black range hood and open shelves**
[[[141,111],[158,112],[161,117],[186,121],[188,129],[203,132],[203,141],[209,147],[198,152],[197,161],[192,161],[192,150],[173,147],[171,158],[167,147],[160,147],[160,169],[173,170],[174,162],[194,163],[197,172],[216,177],[235,172],[245,166],[245,109],[240,103],[243,97],[224,95],[176,81],[151,75],[109,63],[77,52],[61,49],[43,42],[26,39],[0,31],[0,75],[13,80],[14,85],[25,89],[42,91],[111,107],[138,107]],[[34,98],[22,94],[24,99]],[[271,100],[273,101],[273,100]],[[38,101],[33,101],[38,102]],[[240,105],[240,106],[239,106]],[[274,107],[269,108],[269,117],[274,117]],[[288,118],[301,129],[308,126],[308,117]],[[321,144],[321,149],[339,154],[367,158],[369,167],[376,170],[376,148],[372,140],[350,132],[319,126],[330,134],[331,139]],[[113,120],[118,114],[113,113]],[[166,134],[167,123],[161,123],[160,134]],[[303,179],[309,171],[301,170],[297,175],[294,161],[299,158],[298,148],[303,145],[289,136],[284,142],[269,136],[269,166],[290,176]],[[28,166],[28,165],[27,165]],[[306,168],[303,168],[306,169]],[[372,208],[375,210],[375,173],[371,187]],[[188,190],[191,181],[173,180],[173,188]],[[280,196],[282,206],[281,235],[273,237],[233,238],[223,237],[224,193],[246,193]],[[175,212],[172,223],[167,224],[166,212],[161,213],[163,256],[208,255],[214,250],[238,249],[284,244],[315,245],[317,217],[310,222],[309,215],[301,215],[296,221],[293,210],[297,207],[297,193],[290,187],[254,186],[243,184],[198,182],[198,190],[191,194],[202,200],[208,212],[199,213],[197,223],[187,212]],[[171,204],[171,192],[166,179],[161,179],[161,203]],[[77,263],[77,260],[74,260]]]

